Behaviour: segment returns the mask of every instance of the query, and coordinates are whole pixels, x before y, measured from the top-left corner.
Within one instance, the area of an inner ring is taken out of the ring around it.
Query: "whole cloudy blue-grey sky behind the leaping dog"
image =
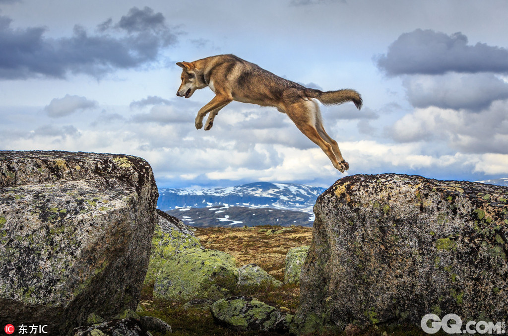
[[[0,150],[139,156],[160,188],[254,181],[329,187],[352,174],[508,176],[505,0],[0,0]],[[235,54],[322,90],[350,170],[274,108],[176,96],[181,69]]]

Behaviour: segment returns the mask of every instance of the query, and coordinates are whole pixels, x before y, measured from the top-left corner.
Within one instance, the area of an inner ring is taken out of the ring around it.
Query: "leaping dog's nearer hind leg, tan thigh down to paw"
[[[310,104],[313,105],[312,102],[292,104],[285,109],[286,114],[288,114],[296,127],[298,127],[307,138],[321,147],[330,161],[332,161],[333,166],[343,173],[346,167],[337,160],[332,145],[325,141],[315,128],[316,115],[313,106],[310,106]]]

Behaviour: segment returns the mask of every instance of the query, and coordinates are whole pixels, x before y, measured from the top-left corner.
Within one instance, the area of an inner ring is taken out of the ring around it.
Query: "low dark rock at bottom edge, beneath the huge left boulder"
[[[74,336],[151,336],[140,320],[128,318],[111,320],[74,329]]]

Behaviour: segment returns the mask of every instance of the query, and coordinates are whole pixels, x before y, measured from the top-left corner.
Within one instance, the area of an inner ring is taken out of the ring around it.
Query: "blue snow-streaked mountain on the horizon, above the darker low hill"
[[[168,211],[221,205],[312,213],[317,196],[324,191],[320,187],[270,182],[216,189],[159,189],[157,207]]]

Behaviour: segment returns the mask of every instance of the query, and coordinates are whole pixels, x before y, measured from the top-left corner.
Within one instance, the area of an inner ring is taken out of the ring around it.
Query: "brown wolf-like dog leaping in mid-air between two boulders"
[[[316,100],[325,105],[353,102],[358,109],[362,107],[362,97],[352,89],[321,91],[304,87],[298,83],[281,78],[247,62],[235,55],[217,55],[195,60],[178,62],[182,68],[181,84],[176,95],[190,98],[194,91],[209,87],[215,97],[203,106],[196,116],[196,128],[205,130],[213,126],[213,120],[220,109],[232,101],[273,106],[287,114],[296,127],[312,142],[323,149],[333,166],[340,172],[349,169],[342,158],[339,146],[325,131],[323,118]]]

